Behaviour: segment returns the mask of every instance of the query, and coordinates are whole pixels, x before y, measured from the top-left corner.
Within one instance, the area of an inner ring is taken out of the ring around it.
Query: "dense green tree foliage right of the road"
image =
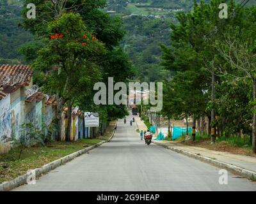
[[[251,102],[255,99],[256,8],[239,8],[230,1],[228,11],[236,13],[221,19],[218,5],[223,2],[195,3],[193,11],[177,15],[179,24],[171,25],[172,45],[163,47],[162,64],[175,75],[166,82],[164,113],[211,119],[214,111],[212,128],[218,127],[226,136],[250,134],[255,147]]]

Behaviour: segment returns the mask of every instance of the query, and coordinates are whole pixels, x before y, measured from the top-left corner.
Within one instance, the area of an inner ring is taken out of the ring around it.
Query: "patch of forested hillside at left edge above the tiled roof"
[[[20,5],[17,0],[0,1],[0,64],[17,64],[22,61],[18,50],[31,41],[32,35],[24,31],[20,24]]]

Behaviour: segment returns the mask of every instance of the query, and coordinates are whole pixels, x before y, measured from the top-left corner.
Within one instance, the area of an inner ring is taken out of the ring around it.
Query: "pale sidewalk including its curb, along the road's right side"
[[[140,120],[139,117],[135,117],[135,122],[140,131],[147,129],[147,126],[143,121]],[[256,179],[256,157],[232,154],[229,152],[219,152],[202,147],[187,146],[165,140],[153,140],[152,142],[176,152],[185,154],[186,156],[199,159],[200,161],[211,163],[219,168],[227,168],[233,173],[247,177],[248,179],[250,179],[253,175],[254,178],[252,179]]]

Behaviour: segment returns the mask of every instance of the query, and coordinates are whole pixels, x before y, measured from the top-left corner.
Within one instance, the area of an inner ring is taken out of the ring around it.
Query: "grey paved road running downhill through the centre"
[[[129,118],[127,119],[129,121]],[[129,122],[118,121],[109,143],[93,149],[15,191],[256,191],[256,182],[157,145],[145,145]]]

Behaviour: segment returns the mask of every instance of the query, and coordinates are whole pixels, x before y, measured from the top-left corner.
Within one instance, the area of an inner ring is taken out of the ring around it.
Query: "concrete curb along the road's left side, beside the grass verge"
[[[117,122],[116,122],[117,123]],[[115,135],[115,130],[113,131],[111,137],[106,140],[106,141],[102,141],[99,142],[95,145],[92,145],[90,147],[87,147],[86,149],[82,149],[79,150],[77,152],[74,152],[72,154],[68,154],[65,157],[61,157],[60,159],[57,159],[55,161],[52,161],[51,163],[45,164],[44,166],[40,167],[40,168],[36,168],[34,171],[36,173],[36,179],[40,177],[40,175],[45,174],[51,170],[54,170],[54,168],[57,168],[58,166],[61,166],[65,163],[67,163],[68,161],[71,161],[72,159],[81,156],[82,154],[96,148],[99,147],[100,145],[102,145],[103,143],[106,142],[110,142],[110,140],[112,140],[113,136]],[[15,187],[18,186],[22,186],[24,184],[27,184],[27,178],[29,176],[29,173],[26,173],[24,175],[21,175],[20,177],[17,177],[13,180],[10,180],[8,182],[3,182],[2,184],[0,184],[0,191],[10,191],[12,189],[14,189]]]

